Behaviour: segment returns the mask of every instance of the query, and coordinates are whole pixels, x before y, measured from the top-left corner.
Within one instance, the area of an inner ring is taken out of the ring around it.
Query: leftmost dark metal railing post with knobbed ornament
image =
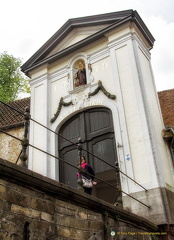
[[[27,167],[26,161],[28,159],[28,155],[27,155],[27,147],[29,145],[29,140],[28,140],[28,132],[29,132],[29,124],[30,124],[30,109],[29,107],[26,107],[25,109],[25,116],[24,116],[24,136],[22,139],[22,151],[21,151],[21,155],[20,155],[20,159],[21,159],[21,166],[23,167]]]

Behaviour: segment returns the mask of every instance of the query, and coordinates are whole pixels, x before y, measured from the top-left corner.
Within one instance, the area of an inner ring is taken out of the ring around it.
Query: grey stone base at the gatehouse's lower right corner
[[[174,224],[173,191],[167,188],[154,188],[147,192],[133,193],[132,197],[146,203],[150,208],[142,207],[141,203],[135,204],[129,196],[124,196],[124,209],[132,209],[133,213],[143,216],[157,225]]]

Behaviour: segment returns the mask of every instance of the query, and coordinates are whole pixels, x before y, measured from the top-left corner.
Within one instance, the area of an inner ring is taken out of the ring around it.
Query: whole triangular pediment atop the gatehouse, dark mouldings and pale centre
[[[126,10],[89,17],[69,19],[26,63],[21,70],[28,74],[45,63],[52,63],[91,42],[105,36],[110,30],[135,22],[147,41],[153,46],[154,38],[136,11]]]

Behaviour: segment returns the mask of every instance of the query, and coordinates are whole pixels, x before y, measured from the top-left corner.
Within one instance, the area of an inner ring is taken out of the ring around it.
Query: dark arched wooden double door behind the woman
[[[108,108],[92,108],[76,114],[63,124],[59,134],[74,143],[78,143],[78,138],[81,137],[83,149],[114,166],[118,163],[112,113]],[[58,142],[59,156],[77,166],[77,147],[61,137],[59,137]],[[97,177],[118,186],[119,179],[116,177],[115,169],[85,151],[82,154],[86,156]],[[60,181],[77,188],[77,170],[62,162],[60,162],[59,169]],[[93,194],[100,199],[114,203],[117,191],[103,182],[98,182],[97,186],[94,187]]]

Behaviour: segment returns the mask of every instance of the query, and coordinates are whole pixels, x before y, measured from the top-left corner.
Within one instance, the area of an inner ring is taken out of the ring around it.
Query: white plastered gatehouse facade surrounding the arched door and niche
[[[105,27],[101,25],[99,29]],[[62,40],[48,56],[90,36],[94,29],[94,26],[87,26],[73,30],[65,42]],[[155,203],[149,200],[143,188],[121,174],[122,190],[136,195],[153,209],[159,205],[162,210],[158,215],[164,217],[160,217],[157,223],[162,224],[167,217],[157,189],[167,188],[173,192],[174,173],[169,150],[161,136],[164,125],[151,67],[150,48],[142,31],[130,21],[55,62],[32,69],[29,71],[31,116],[58,132],[66,120],[83,109],[98,106],[109,108],[113,115],[120,170],[150,190]],[[78,58],[85,61],[87,84],[74,89],[72,63]],[[102,91],[88,97],[88,93],[98,86],[99,80],[109,93],[116,95],[115,100],[109,99]],[[61,97],[65,102],[72,101],[73,105],[62,107],[59,116],[51,123]],[[56,134],[31,121],[30,144],[57,156],[57,139]],[[29,168],[59,180],[58,160],[34,148],[30,148]],[[158,194],[155,193],[157,191]],[[139,215],[147,211],[147,207],[130,201],[124,194],[123,207]],[[148,212],[149,215],[154,213]]]

